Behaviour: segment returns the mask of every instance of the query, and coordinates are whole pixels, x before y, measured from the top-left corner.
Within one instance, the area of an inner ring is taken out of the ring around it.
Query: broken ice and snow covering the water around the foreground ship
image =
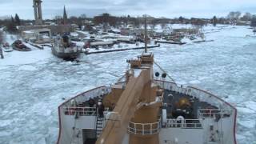
[[[210,90],[237,106],[238,143],[255,143],[256,39],[246,37],[252,30],[245,26],[206,30],[214,42],[150,51],[178,84]],[[55,58],[50,48],[7,54],[0,59],[0,143],[55,143],[62,98],[115,82],[125,72],[126,59],[141,52],[82,54],[79,65]]]

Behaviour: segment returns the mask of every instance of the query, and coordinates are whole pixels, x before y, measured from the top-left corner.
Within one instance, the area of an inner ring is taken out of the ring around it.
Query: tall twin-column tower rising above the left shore
[[[34,20],[36,25],[42,25],[42,0],[33,0]]]

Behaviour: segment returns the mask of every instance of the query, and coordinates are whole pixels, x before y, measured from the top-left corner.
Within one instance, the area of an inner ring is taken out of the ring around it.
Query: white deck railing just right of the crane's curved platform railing
[[[162,126],[165,128],[202,129],[199,119],[167,119]]]

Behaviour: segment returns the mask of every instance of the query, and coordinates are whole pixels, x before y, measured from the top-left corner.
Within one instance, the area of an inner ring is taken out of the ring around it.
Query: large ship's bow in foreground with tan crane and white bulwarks
[[[237,110],[230,103],[206,90],[178,86],[147,48],[127,62],[126,74],[114,85],[58,106],[58,144],[237,143]]]

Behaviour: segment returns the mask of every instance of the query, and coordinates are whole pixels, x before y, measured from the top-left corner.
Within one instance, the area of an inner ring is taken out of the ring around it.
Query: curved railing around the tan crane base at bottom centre
[[[154,123],[134,123],[129,122],[128,132],[130,134],[152,135],[158,134],[160,130],[160,122]]]

